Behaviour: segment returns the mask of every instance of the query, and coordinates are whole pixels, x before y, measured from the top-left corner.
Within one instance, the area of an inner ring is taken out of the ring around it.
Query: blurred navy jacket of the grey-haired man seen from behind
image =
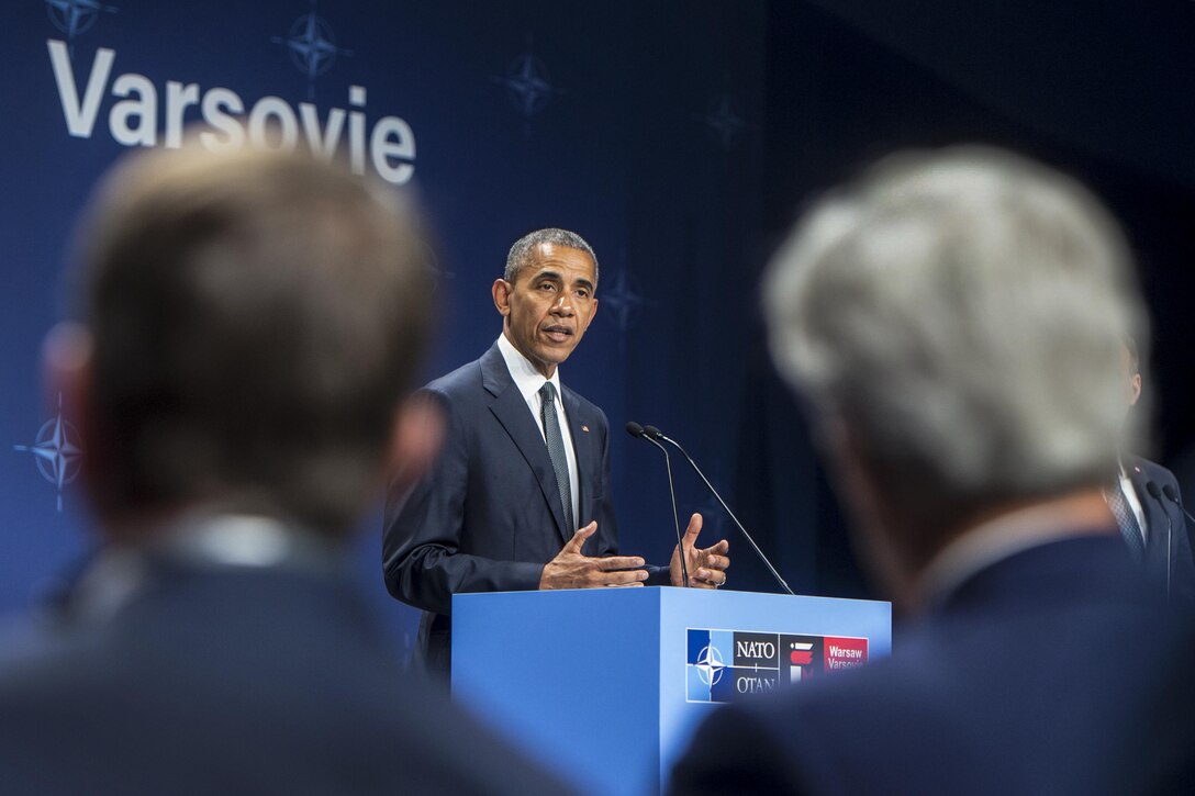
[[[1111,535],[1016,553],[890,659],[713,715],[672,790],[1190,792],[1190,630],[1142,583]]]

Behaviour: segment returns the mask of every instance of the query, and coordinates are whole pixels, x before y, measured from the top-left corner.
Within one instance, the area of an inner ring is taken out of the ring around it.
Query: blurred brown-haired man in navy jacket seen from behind
[[[396,197],[188,147],[92,209],[47,351],[103,541],[0,641],[0,791],[558,792],[403,671],[349,577],[429,318]]]

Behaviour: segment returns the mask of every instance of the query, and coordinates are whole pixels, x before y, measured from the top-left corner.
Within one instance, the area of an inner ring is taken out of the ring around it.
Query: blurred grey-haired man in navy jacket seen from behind
[[[1073,180],[964,147],[823,200],[764,288],[890,659],[715,714],[679,794],[1190,792],[1190,626],[1104,502],[1127,246]]]

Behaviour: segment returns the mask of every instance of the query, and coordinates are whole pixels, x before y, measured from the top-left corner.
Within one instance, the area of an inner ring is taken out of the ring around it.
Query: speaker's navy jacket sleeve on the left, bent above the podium
[[[445,417],[443,447],[415,486],[392,485],[382,523],[382,572],[390,593],[417,608],[452,613],[452,595],[539,588],[544,564],[460,552],[470,480],[470,442],[446,394],[427,391]]]

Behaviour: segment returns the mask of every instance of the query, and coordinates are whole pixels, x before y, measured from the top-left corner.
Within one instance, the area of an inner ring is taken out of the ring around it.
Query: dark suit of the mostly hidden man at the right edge
[[[1127,457],[1124,470],[1128,472],[1133,489],[1145,509],[1146,545],[1145,569],[1151,580],[1162,588],[1166,586],[1166,569],[1170,568],[1170,594],[1173,599],[1195,602],[1195,557],[1191,556],[1191,540],[1187,528],[1187,518],[1182,509],[1165,497],[1151,497],[1146,485],[1153,482],[1159,489],[1172,486],[1178,495],[1178,482],[1175,473],[1159,464],[1140,457]],[[1166,546],[1170,546],[1170,558],[1166,558]]]

